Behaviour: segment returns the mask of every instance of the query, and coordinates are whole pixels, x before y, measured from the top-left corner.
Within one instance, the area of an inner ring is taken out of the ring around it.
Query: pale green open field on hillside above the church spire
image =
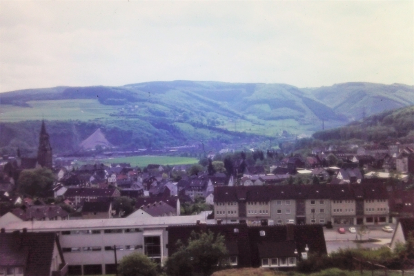
[[[116,111],[114,106],[104,106],[96,99],[59,99],[50,101],[28,101],[31,108],[2,104],[1,121],[25,120],[81,120],[108,118]]]

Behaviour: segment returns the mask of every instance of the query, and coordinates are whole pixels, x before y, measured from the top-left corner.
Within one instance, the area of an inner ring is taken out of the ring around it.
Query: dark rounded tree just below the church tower
[[[17,180],[18,190],[31,196],[45,197],[52,188],[55,175],[48,168],[23,170]]]

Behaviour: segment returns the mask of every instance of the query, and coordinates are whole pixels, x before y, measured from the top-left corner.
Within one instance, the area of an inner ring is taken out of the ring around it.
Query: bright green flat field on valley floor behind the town
[[[131,164],[131,166],[134,166],[134,167],[139,166],[140,168],[144,168],[148,166],[148,164],[159,164],[159,165],[196,164],[198,163],[198,159],[190,158],[190,157],[144,155],[144,156],[118,157],[118,158],[115,157],[115,158],[101,159],[100,162],[103,164],[129,163]]]

